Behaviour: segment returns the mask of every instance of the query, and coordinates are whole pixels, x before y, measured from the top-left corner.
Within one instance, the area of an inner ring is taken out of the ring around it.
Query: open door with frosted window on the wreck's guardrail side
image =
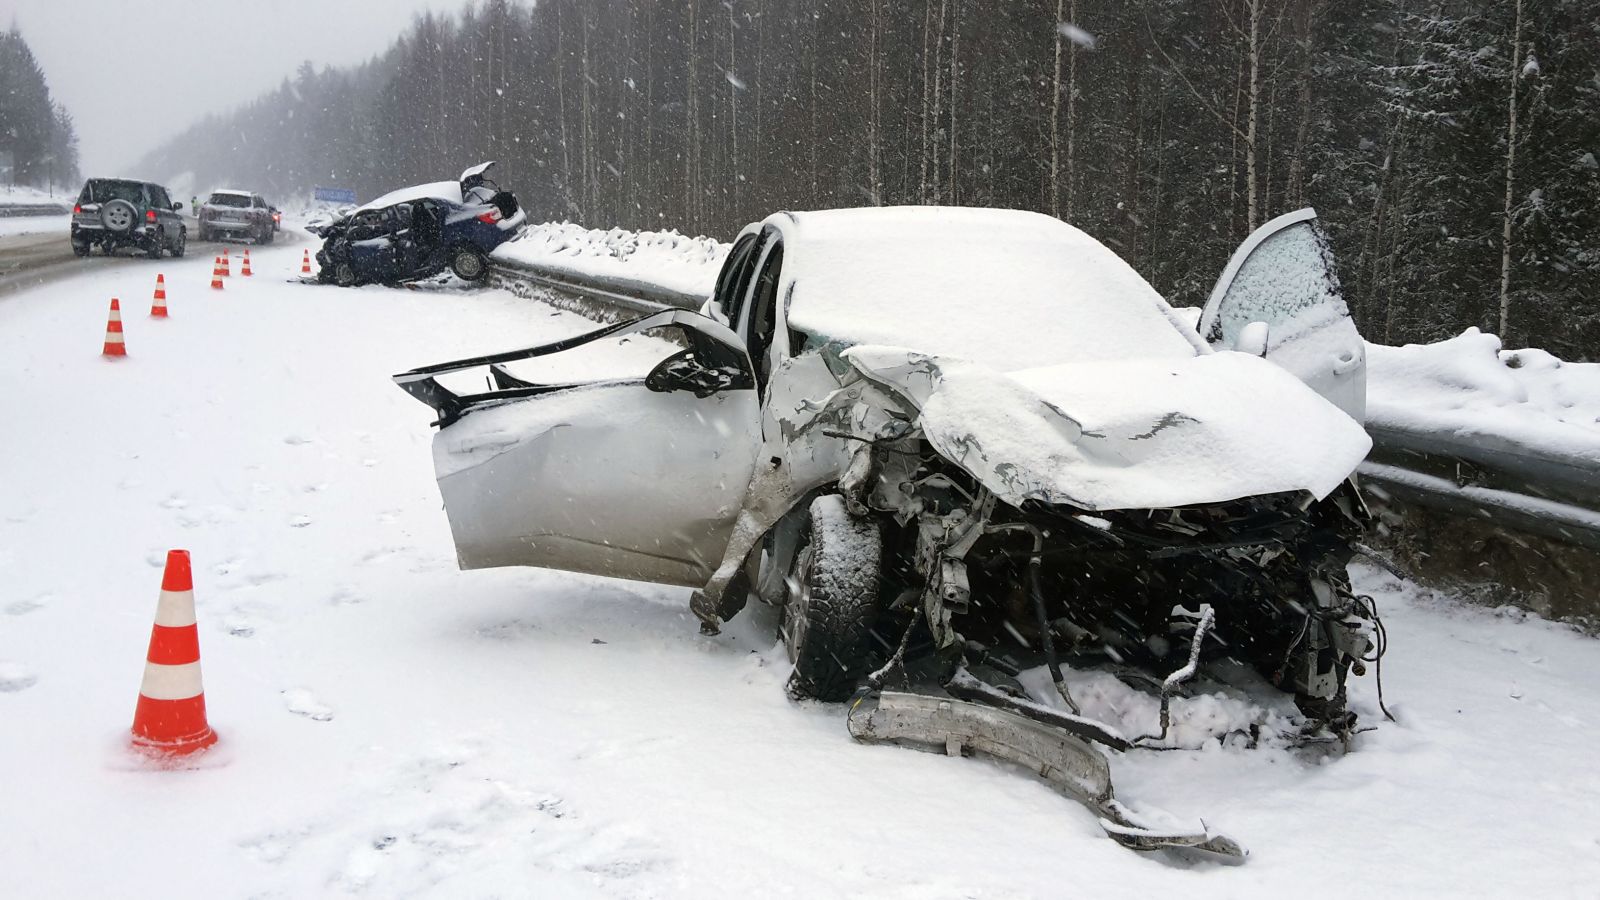
[[[1282,215],[1238,245],[1200,314],[1200,336],[1282,365],[1366,421],[1366,346],[1315,210]]]

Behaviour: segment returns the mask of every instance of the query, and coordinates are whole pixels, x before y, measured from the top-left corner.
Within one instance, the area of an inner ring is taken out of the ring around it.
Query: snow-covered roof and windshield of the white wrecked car
[[[789,323],[848,344],[957,356],[1000,372],[1206,352],[1117,253],[1021,210],[778,213]]]

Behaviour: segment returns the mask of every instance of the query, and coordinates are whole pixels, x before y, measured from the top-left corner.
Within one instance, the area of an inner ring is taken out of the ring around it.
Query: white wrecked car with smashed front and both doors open
[[[675,341],[648,372],[531,375],[640,333]],[[395,381],[438,413],[464,569],[693,586],[707,631],[781,605],[797,697],[907,655],[954,693],[963,663],[1195,649],[1347,737],[1362,354],[1309,210],[1251,235],[1197,333],[1069,224],[915,207],[774,215],[701,312]],[[450,386],[475,368],[496,389]]]

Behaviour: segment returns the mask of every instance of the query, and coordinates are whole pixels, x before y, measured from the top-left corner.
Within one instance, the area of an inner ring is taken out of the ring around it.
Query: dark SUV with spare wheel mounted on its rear
[[[91,178],[72,207],[72,251],[88,256],[98,243],[104,253],[134,247],[150,259],[160,259],[162,250],[182,256],[189,227],[181,208],[160,184]]]

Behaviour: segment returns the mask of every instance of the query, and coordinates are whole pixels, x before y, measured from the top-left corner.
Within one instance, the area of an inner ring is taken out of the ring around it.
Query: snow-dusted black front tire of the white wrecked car
[[[867,673],[878,615],[883,533],[829,493],[811,501],[805,532],[784,578],[782,625],[794,673],[789,697],[850,700]]]

